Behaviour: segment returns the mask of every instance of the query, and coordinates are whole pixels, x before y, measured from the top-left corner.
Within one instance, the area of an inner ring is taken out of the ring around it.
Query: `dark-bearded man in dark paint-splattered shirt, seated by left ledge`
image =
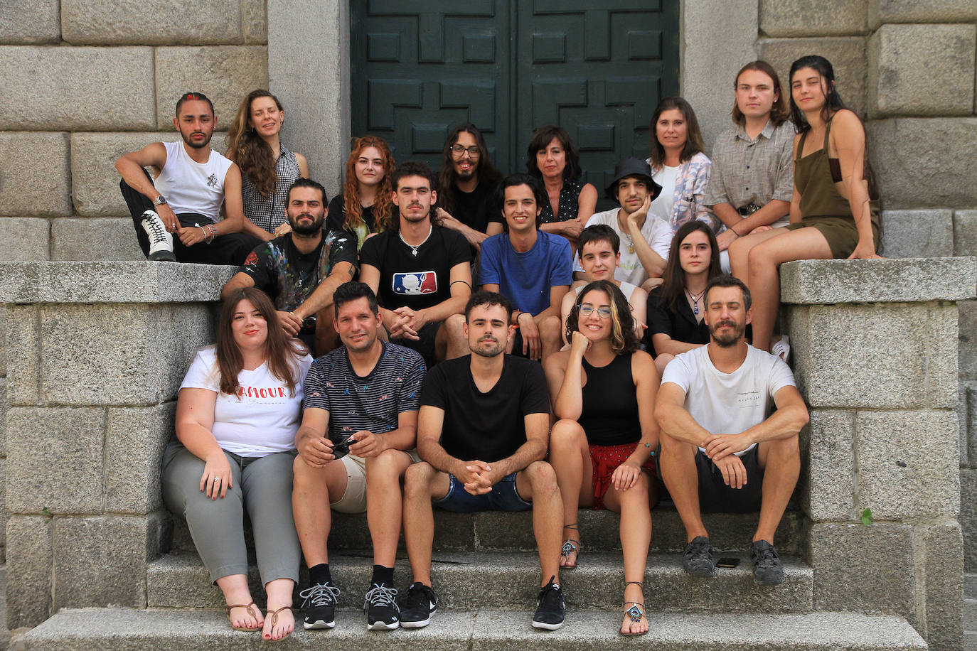
[[[335,347],[332,293],[357,270],[356,241],[322,230],[325,206],[319,183],[292,183],[285,205],[292,231],[256,247],[221,291],[227,298],[241,287],[262,290],[275,302],[282,329],[318,355]]]

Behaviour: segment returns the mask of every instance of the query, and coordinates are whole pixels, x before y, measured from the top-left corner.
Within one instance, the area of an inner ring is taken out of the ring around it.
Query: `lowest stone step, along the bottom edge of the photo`
[[[573,611],[559,631],[531,628],[531,610],[439,612],[425,629],[366,631],[360,612],[340,611],[331,631],[298,631],[280,649],[647,649],[656,651],[876,651],[925,649],[926,642],[900,617],[819,612],[791,615],[653,615],[651,631],[617,633],[617,611]],[[260,634],[234,631],[218,610],[62,610],[22,638],[27,651],[197,651],[268,649]]]

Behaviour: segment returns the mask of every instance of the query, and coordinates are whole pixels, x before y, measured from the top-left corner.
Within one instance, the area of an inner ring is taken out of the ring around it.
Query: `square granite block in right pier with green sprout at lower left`
[[[860,411],[855,417],[857,509],[881,520],[947,516],[959,508],[956,415]]]

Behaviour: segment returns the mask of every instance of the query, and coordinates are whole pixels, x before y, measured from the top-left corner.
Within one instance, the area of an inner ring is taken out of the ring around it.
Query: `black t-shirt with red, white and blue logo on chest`
[[[414,256],[399,232],[386,230],[363,243],[360,264],[380,271],[377,298],[387,309],[424,309],[451,298],[451,267],[471,263],[468,241],[449,228],[434,227]]]

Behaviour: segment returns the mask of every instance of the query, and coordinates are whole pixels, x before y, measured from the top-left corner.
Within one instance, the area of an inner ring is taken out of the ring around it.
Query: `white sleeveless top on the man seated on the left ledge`
[[[154,181],[156,189],[177,215],[199,213],[217,222],[224,203],[224,178],[234,163],[213,149],[201,164],[190,157],[183,142],[163,142],[163,146],[166,165]]]

